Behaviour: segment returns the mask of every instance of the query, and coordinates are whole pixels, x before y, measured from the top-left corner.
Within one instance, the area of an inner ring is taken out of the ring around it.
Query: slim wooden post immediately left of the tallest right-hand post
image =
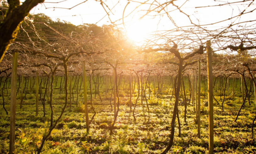
[[[201,62],[198,62],[198,138],[201,138]]]

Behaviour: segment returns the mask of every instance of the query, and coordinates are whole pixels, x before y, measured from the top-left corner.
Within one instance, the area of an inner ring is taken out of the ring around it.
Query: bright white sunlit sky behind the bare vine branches
[[[45,0],[45,2],[60,2],[62,0]],[[68,21],[75,25],[80,25],[83,23],[97,23],[97,25],[102,26],[103,24],[110,24],[110,19],[112,22],[119,20],[122,18],[124,8],[127,4],[127,0],[107,0],[103,1],[108,5],[110,9],[112,9],[112,13],[109,13],[110,16],[108,17],[106,15],[105,10],[100,5],[100,2],[94,1],[94,0],[88,0],[85,3],[84,0],[67,0],[61,3],[43,3],[37,5],[35,8],[31,10],[31,14],[33,13],[44,13],[47,16],[51,17],[53,20],[56,20],[59,18],[60,20]],[[142,2],[142,1],[141,1]],[[144,1],[143,1],[144,2]],[[148,1],[152,3],[152,1]],[[167,2],[165,1],[158,1],[160,3]],[[186,2],[186,3],[185,3]],[[232,1],[234,2],[234,1]],[[211,6],[211,5],[218,5],[222,4],[223,2],[217,2],[214,0],[178,0],[175,1],[174,4],[181,6],[183,3],[185,3],[181,10],[185,13],[189,14],[192,18],[192,21],[194,23],[198,23],[198,20],[200,21],[200,24],[208,24],[208,23],[215,23],[227,18],[231,18],[233,16],[238,15],[242,10],[244,10],[246,7],[248,7],[248,4],[251,1],[240,3],[243,5],[226,5],[226,6],[216,6],[216,7],[207,7],[207,8],[195,8],[200,6]],[[64,9],[64,8],[71,8],[77,4],[81,3],[80,5],[72,8],[72,9]],[[248,10],[252,10],[255,8],[256,2],[248,8]],[[115,6],[115,7],[114,7]],[[134,10],[136,7],[138,7],[133,13],[132,10]],[[46,9],[47,8],[47,9]],[[125,28],[127,30],[127,36],[134,40],[134,41],[142,41],[148,33],[154,32],[156,30],[169,30],[172,28],[175,28],[173,23],[170,21],[169,18],[167,18],[166,15],[163,16],[145,16],[141,20],[140,17],[145,12],[139,11],[139,10],[147,10],[149,8],[149,5],[139,5],[139,3],[131,2],[129,5],[127,5],[125,9],[124,16],[127,16],[129,13],[131,13],[127,18],[124,19]],[[174,7],[170,4],[168,7],[168,11],[171,11],[174,9]],[[105,7],[107,11],[108,8]],[[164,12],[162,12],[164,13]],[[157,14],[155,12],[149,13],[149,15]],[[177,26],[188,26],[191,25],[189,18],[180,13],[178,10],[175,10],[173,12],[169,13],[171,18],[174,20]],[[110,18],[110,19],[109,19]],[[248,13],[248,15],[243,15],[242,18],[238,18],[237,22],[240,21],[249,21],[249,20],[255,20],[256,19],[256,13]],[[215,24],[213,26],[208,26],[209,28],[218,28],[220,26],[228,26],[233,22],[235,19],[228,20],[219,24]],[[116,24],[121,24],[122,20],[117,21]],[[123,27],[123,25],[119,25],[120,27]]]

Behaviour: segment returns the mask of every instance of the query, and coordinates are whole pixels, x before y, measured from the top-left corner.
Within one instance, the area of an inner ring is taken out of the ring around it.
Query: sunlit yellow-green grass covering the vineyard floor
[[[55,84],[53,84],[55,85]],[[201,84],[202,85],[202,84]],[[57,86],[59,87],[59,86]],[[186,85],[188,87],[188,85]],[[202,88],[204,90],[204,88]],[[114,119],[114,113],[109,105],[109,98],[104,94],[102,87],[101,102],[93,95],[93,104],[97,111],[94,120],[90,123],[90,132],[86,133],[86,123],[83,105],[83,96],[79,95],[78,106],[75,106],[76,95],[72,107],[67,107],[61,120],[52,135],[46,141],[42,153],[45,154],[84,154],[84,153],[120,153],[120,154],[142,154],[160,153],[168,145],[170,134],[170,122],[174,106],[174,99],[157,99],[151,97],[149,102],[150,112],[147,112],[146,102],[138,101],[135,110],[136,122],[130,112],[129,99],[124,91],[120,91],[123,97],[120,98],[120,111],[114,127],[114,135],[109,135],[109,126]],[[169,89],[163,90],[170,91]],[[214,90],[215,91],[215,90]],[[76,93],[76,90],[74,90]],[[82,91],[81,91],[82,92]],[[237,88],[236,93],[240,90]],[[10,94],[10,92],[8,93]],[[166,93],[165,93],[166,94]],[[201,102],[207,100],[201,94]],[[220,101],[220,96],[215,97]],[[108,97],[111,91],[108,93]],[[9,100],[6,97],[7,110]],[[133,95],[133,102],[136,94]],[[189,96],[187,91],[187,96]],[[207,97],[207,94],[206,94]],[[251,97],[253,99],[254,95]],[[39,104],[39,114],[35,112],[35,95],[27,94],[24,99],[24,106],[19,109],[19,96],[17,97],[16,108],[16,143],[15,153],[31,154],[36,153],[41,144],[42,136],[49,128],[50,107],[46,103],[46,117],[43,117],[42,104]],[[89,99],[88,99],[89,100]],[[226,101],[224,112],[221,106],[214,105],[214,153],[256,153],[256,142],[251,138],[251,124],[255,116],[255,105],[248,105],[241,111],[237,122],[234,122],[237,111],[242,104],[242,98],[236,95],[235,100]],[[40,102],[41,103],[41,102]],[[112,101],[113,103],[113,101]],[[69,104],[69,103],[68,103]],[[229,104],[229,105],[227,105]],[[231,104],[231,105],[230,105]],[[53,95],[54,120],[58,118],[61,108],[64,105],[63,94],[55,88]],[[90,107],[89,107],[90,109]],[[193,106],[187,108],[187,123],[184,122],[184,106],[179,106],[181,121],[181,137],[178,137],[178,124],[175,126],[174,146],[169,153],[174,154],[200,154],[208,153],[208,108],[201,106],[201,139],[197,137],[197,122]],[[89,118],[93,111],[89,110]],[[0,153],[8,153],[9,149],[9,115],[6,115],[3,107],[0,107]],[[29,141],[22,145],[20,139]],[[20,141],[19,141],[20,140]]]

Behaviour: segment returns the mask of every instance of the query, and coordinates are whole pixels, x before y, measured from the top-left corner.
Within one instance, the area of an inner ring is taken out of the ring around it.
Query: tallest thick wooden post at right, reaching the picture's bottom
[[[208,110],[209,110],[209,154],[213,154],[213,75],[211,41],[207,41],[207,80],[208,80]]]

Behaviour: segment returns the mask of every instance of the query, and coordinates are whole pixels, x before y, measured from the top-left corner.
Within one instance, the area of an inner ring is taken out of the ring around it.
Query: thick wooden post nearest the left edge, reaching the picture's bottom
[[[17,62],[18,50],[13,53],[12,77],[11,77],[11,101],[10,101],[10,145],[9,153],[14,153],[15,143],[15,115],[16,115],[16,84],[17,84]]]

